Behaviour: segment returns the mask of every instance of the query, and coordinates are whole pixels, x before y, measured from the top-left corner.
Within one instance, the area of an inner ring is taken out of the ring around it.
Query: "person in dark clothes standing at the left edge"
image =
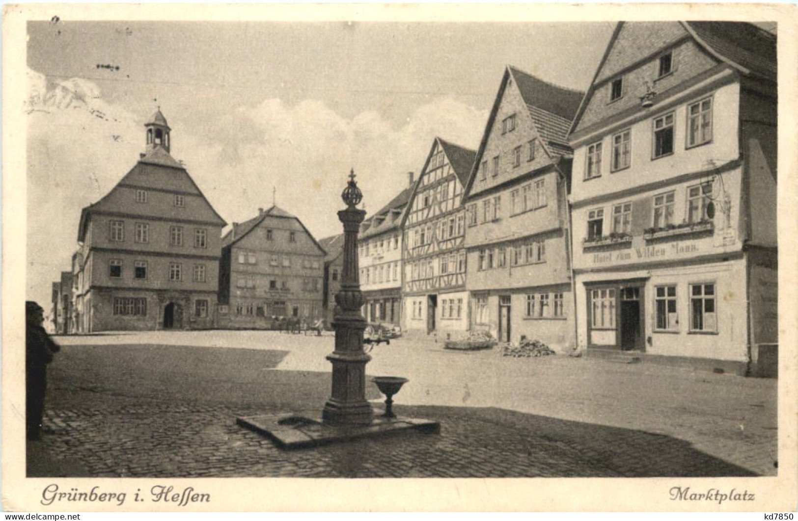
[[[41,416],[45,408],[47,364],[60,347],[49,338],[41,324],[44,309],[32,300],[25,303],[25,377],[26,377],[26,433],[29,440],[41,437]]]

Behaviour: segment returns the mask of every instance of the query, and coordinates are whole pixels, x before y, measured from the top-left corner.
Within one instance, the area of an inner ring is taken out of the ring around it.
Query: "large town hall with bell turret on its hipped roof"
[[[160,110],[145,129],[136,166],[81,213],[74,332],[214,325],[225,222],[170,155]]]

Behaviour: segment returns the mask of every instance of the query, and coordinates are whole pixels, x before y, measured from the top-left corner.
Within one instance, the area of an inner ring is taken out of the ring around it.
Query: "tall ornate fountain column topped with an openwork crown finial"
[[[333,390],[322,410],[322,420],[330,425],[369,425],[373,409],[365,399],[365,364],[371,357],[363,351],[365,319],[361,315],[363,294],[358,272],[358,231],[365,218],[365,210],[357,206],[363,198],[354,180],[341,194],[346,210],[338,212],[344,228],[344,260],[341,289],[335,295],[335,350],[327,355],[333,364]]]

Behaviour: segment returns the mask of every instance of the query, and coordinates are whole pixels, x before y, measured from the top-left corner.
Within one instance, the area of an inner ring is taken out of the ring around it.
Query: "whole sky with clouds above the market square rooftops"
[[[341,231],[350,168],[377,210],[436,135],[477,147],[505,65],[584,90],[613,27],[31,22],[28,298],[49,303],[81,208],[135,164],[155,100],[172,155],[225,220],[253,217],[276,190],[321,238]]]

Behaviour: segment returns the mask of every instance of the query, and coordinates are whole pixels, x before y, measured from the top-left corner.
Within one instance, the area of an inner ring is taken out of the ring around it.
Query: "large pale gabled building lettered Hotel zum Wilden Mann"
[[[615,29],[571,131],[579,346],[756,370],[777,343],[776,40]]]

